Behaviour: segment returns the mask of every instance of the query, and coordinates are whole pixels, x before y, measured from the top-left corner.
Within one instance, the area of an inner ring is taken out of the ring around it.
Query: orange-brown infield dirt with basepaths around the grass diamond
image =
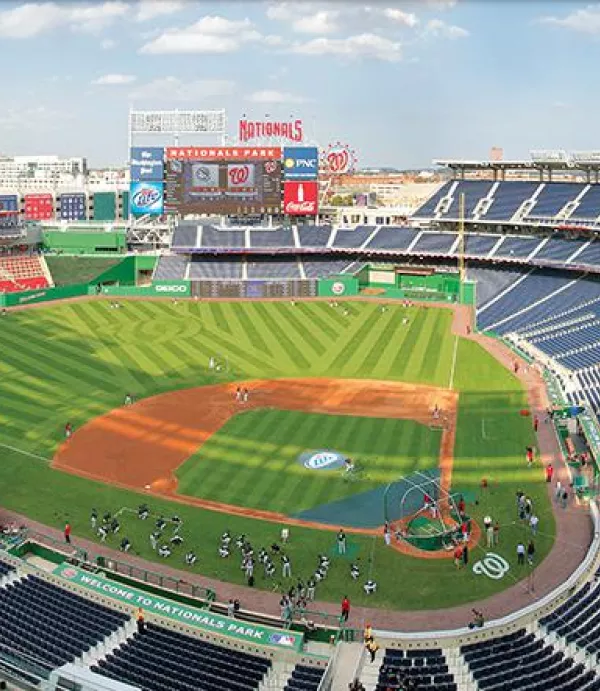
[[[237,387],[248,389],[247,403],[236,401]],[[278,408],[406,419],[432,425],[437,424],[432,411],[438,406],[445,421],[439,458],[441,483],[444,489],[449,489],[457,403],[458,394],[449,389],[362,379],[253,380],[184,389],[147,398],[95,418],[61,445],[53,467],[224,513],[335,530],[273,511],[180,495],[175,472],[233,415],[244,410]],[[379,533],[368,529],[351,532]],[[414,553],[408,545],[402,551]]]

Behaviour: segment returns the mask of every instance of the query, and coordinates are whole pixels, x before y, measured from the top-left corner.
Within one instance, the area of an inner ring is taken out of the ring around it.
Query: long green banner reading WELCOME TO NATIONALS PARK
[[[70,564],[58,566],[53,574],[97,595],[112,598],[131,607],[142,607],[149,614],[212,634],[228,636],[244,643],[252,643],[252,645],[268,645],[296,651],[302,647],[302,634],[259,626],[248,621],[238,621],[173,600],[166,600],[145,590],[82,571]]]

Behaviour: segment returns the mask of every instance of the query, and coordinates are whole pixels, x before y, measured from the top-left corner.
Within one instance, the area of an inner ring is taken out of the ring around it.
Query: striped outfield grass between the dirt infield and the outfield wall
[[[138,398],[225,378],[330,376],[447,385],[451,315],[324,302],[107,301],[14,313],[0,329],[0,442],[49,457],[75,426]],[[407,316],[409,324],[403,325]]]

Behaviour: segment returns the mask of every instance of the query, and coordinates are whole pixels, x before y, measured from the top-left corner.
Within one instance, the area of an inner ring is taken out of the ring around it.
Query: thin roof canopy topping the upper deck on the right
[[[596,170],[600,171],[598,151],[531,151],[530,160],[468,161],[436,159],[434,165],[453,170]]]

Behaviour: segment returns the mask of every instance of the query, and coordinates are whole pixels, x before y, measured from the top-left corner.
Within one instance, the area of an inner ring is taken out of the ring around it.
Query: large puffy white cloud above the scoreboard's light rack
[[[206,16],[183,29],[168,29],[140,49],[141,53],[232,53],[261,34],[249,19],[234,21]]]

